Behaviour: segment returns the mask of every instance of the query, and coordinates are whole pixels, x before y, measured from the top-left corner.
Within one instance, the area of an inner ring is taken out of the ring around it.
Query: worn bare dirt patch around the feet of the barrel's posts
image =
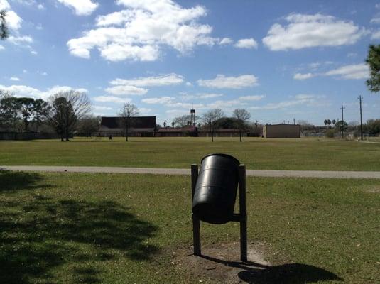
[[[200,283],[214,280],[217,283],[246,283],[239,278],[239,273],[265,269],[270,265],[264,258],[264,245],[248,246],[248,263],[240,261],[240,244],[215,244],[202,246],[202,256],[194,256],[192,247],[179,249],[173,253],[173,265],[190,274]]]

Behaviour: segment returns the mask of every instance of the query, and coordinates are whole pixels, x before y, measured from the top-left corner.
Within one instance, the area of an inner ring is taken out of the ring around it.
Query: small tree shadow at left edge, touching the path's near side
[[[43,178],[38,173],[16,172],[0,168],[0,192],[49,187],[48,185],[38,185],[41,180]]]

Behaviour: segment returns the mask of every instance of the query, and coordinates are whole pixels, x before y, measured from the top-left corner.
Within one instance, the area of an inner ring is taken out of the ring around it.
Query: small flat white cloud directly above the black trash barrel
[[[215,79],[211,80],[197,80],[201,87],[218,88],[218,89],[242,89],[245,87],[252,87],[258,84],[257,77],[254,75],[241,75],[237,77],[226,77],[224,75],[217,75]]]

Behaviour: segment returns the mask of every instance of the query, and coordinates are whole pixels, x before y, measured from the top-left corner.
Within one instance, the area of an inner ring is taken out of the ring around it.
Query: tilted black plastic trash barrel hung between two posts
[[[239,182],[239,160],[226,154],[202,158],[192,213],[211,224],[231,221]]]

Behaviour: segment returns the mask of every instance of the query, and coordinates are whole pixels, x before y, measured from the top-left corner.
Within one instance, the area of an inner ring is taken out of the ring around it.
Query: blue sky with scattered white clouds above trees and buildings
[[[252,119],[323,124],[379,118],[367,91],[378,1],[0,0],[0,88],[42,97],[87,92],[96,115],[124,102],[158,123],[220,108]]]

